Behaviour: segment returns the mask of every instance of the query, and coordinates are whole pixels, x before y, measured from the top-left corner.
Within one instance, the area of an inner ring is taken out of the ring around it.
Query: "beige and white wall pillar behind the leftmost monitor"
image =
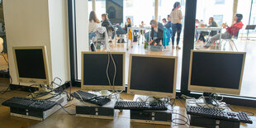
[[[13,46],[45,45],[54,77],[69,80],[69,41],[67,5],[65,0],[4,0],[7,51],[13,84],[17,73],[13,61]],[[29,85],[21,83],[21,85]]]

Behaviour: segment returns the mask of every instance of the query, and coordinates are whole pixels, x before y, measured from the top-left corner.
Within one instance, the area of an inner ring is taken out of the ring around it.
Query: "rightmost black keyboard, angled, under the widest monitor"
[[[187,106],[187,114],[192,116],[206,116],[216,120],[235,121],[249,124],[253,123],[245,112],[220,111],[219,109]]]

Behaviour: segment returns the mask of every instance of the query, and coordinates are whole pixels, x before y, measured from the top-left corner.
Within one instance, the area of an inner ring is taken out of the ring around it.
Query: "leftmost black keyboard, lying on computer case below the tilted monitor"
[[[31,99],[27,97],[12,97],[5,102],[2,102],[2,106],[6,107],[16,107],[29,110],[46,111],[51,107],[54,107],[57,102]]]

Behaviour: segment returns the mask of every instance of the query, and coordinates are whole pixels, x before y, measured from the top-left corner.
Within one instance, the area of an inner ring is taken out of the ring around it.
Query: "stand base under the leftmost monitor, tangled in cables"
[[[38,91],[32,92],[31,95],[29,95],[28,97],[36,98],[36,99],[49,99],[50,97],[53,97],[55,95],[55,92],[50,92],[50,89],[45,88],[45,86],[42,84],[37,85],[37,87],[38,87]],[[42,93],[45,93],[45,95],[41,95],[40,97],[37,97],[38,94],[42,94]]]

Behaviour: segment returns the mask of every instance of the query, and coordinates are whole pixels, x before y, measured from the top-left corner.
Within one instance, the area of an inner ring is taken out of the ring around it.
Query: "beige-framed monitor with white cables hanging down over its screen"
[[[82,52],[81,88],[124,90],[125,64],[125,52]]]

